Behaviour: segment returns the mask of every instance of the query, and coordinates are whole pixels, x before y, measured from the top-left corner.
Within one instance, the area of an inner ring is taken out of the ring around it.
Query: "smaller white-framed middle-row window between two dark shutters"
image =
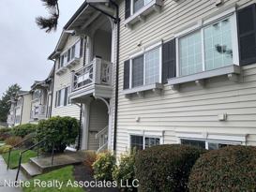
[[[161,45],[131,56],[129,88],[161,83]]]

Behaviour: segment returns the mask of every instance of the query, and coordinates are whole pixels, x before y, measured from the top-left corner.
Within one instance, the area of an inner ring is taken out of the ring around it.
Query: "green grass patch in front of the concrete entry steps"
[[[37,177],[30,180],[30,186],[27,188],[23,188],[23,192],[83,192],[83,188],[80,187],[71,187],[67,186],[68,180],[74,181],[73,176],[73,166],[68,166],[59,170],[53,170],[51,172],[38,175]],[[63,186],[59,189],[57,186],[55,187],[40,187],[35,186],[34,181],[38,179],[40,182],[52,182],[53,180],[57,180],[58,182],[63,182]]]

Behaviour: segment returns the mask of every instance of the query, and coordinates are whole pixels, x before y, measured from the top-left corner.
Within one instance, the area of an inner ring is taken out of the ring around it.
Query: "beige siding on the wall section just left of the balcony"
[[[66,46],[63,49],[63,52],[67,51],[79,37],[69,36]],[[55,71],[58,69],[58,65],[55,65]],[[77,119],[80,118],[80,108],[75,104],[68,104],[65,107],[55,107],[56,101],[56,91],[63,89],[71,85],[71,70],[78,70],[83,67],[83,57],[80,59],[80,64],[73,66],[71,69],[68,69],[65,73],[59,75],[54,74],[54,85],[53,85],[53,111],[52,116],[71,116]]]

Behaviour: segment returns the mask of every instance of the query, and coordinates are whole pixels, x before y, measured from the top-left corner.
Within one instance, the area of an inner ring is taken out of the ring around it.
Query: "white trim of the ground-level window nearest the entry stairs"
[[[143,149],[144,149],[144,140],[145,138],[156,138],[159,139],[159,144],[164,143],[164,131],[160,130],[128,130],[128,149],[130,149],[131,136],[143,136]]]

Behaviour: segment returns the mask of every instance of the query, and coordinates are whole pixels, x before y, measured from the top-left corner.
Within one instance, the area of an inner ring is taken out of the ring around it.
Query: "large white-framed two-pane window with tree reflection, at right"
[[[239,65],[237,33],[233,33],[237,31],[234,11],[193,28],[177,37],[177,76]]]

